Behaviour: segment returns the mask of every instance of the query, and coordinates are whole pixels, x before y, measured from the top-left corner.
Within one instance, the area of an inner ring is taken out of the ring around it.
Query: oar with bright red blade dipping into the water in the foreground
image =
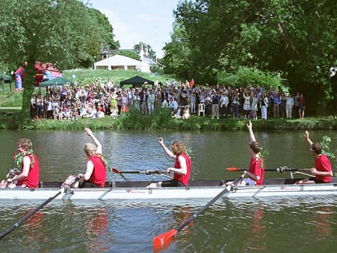
[[[170,238],[172,238],[174,235],[176,235],[176,233],[178,233],[182,228],[184,228],[188,223],[190,223],[191,221],[193,221],[195,218],[197,218],[197,216],[199,214],[201,214],[201,212],[204,212],[204,210],[206,210],[207,207],[209,207],[210,205],[212,205],[214,202],[216,202],[216,200],[218,200],[219,197],[221,197],[222,195],[224,195],[225,193],[228,193],[230,191],[231,186],[236,186],[243,178],[244,175],[239,176],[238,179],[236,179],[230,186],[227,186],[224,190],[222,190],[218,195],[216,195],[216,197],[213,197],[213,199],[208,202],[206,205],[204,205],[204,207],[202,207],[197,213],[193,214],[192,217],[190,217],[190,219],[188,219],[187,221],[185,221],[185,223],[183,223],[180,227],[178,227],[177,229],[172,229],[169,232],[166,232],[162,235],[158,235],[155,238],[153,238],[153,247],[154,248],[158,248],[158,247],[162,247],[164,245],[165,242],[169,241]]]

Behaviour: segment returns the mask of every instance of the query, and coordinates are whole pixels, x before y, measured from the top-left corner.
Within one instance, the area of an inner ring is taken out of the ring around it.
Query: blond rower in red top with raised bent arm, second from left
[[[81,179],[74,184],[74,188],[99,188],[105,186],[105,179],[107,176],[107,162],[102,155],[102,145],[100,141],[93,135],[91,129],[84,129],[86,135],[93,139],[93,143],[86,143],[84,145],[84,153],[88,157],[86,163],[86,172],[78,174]],[[64,184],[70,183],[76,176],[70,175]],[[62,185],[63,186],[63,185]]]

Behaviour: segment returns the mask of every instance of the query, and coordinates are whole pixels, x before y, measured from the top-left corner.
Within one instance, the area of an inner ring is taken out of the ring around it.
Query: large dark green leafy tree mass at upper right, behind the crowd
[[[308,110],[324,113],[336,99],[336,7],[333,0],[199,0],[180,1],[174,13],[194,78],[214,81],[217,72],[240,67],[279,72],[292,91],[304,93]]]

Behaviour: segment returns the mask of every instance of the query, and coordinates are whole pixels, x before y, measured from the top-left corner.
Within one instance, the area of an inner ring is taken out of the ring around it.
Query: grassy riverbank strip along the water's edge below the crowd
[[[176,129],[176,130],[228,130],[246,129],[247,119],[211,119],[197,117],[190,119],[172,119],[169,110],[157,108],[152,115],[142,116],[138,110],[131,110],[128,115],[117,119],[105,117],[101,119],[79,119],[74,122],[39,119],[34,122],[22,121],[19,117],[20,108],[0,108],[1,129],[55,129],[76,130],[90,127],[91,129]],[[305,119],[274,119],[254,120],[256,129],[337,129],[336,117],[308,117]]]

